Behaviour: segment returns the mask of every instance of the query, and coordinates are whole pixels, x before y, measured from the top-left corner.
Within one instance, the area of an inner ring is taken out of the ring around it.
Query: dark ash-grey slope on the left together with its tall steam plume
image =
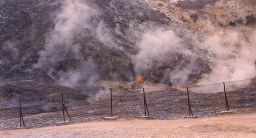
[[[143,33],[184,27],[159,10],[143,0],[3,0],[1,79],[132,80],[139,74],[131,55]]]

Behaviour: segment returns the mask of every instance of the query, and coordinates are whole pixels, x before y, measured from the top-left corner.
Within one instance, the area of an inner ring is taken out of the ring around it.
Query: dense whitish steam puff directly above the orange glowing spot
[[[148,72],[152,68],[154,60],[161,61],[166,53],[175,51],[175,49],[181,50],[180,41],[181,39],[175,36],[172,30],[156,30],[145,33],[142,41],[137,44],[140,51],[133,57],[136,73]]]

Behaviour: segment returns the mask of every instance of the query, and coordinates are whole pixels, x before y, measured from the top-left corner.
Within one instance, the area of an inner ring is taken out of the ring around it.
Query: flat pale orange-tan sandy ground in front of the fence
[[[256,112],[179,120],[97,121],[0,131],[1,138],[256,138]]]

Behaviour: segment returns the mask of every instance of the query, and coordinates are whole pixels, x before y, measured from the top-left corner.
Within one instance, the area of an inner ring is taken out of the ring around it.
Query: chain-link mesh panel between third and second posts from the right
[[[181,117],[188,111],[185,88],[145,88],[149,114],[155,118]]]

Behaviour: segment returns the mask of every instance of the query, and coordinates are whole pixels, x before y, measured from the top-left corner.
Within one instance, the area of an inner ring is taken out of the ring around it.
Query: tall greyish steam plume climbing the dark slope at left
[[[55,27],[46,35],[45,49],[39,52],[40,57],[34,67],[43,68],[60,85],[76,86],[81,81],[93,85],[98,79],[97,65],[90,57],[84,57],[87,47],[75,39],[93,36],[102,44],[115,46],[109,30],[99,19],[100,15],[80,0],[66,0],[61,12],[56,14]],[[78,67],[66,71],[54,67],[69,59],[78,62]]]

